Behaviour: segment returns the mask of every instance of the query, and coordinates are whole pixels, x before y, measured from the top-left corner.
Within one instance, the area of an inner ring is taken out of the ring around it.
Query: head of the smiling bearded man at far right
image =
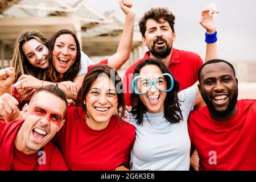
[[[236,113],[237,83],[233,69],[226,63],[212,63],[202,69],[199,90],[213,116],[226,119]]]

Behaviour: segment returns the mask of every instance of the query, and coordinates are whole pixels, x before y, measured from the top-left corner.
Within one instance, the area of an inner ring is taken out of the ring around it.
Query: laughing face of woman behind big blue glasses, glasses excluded
[[[152,64],[144,66],[139,72],[139,76],[146,77],[151,81],[154,81],[162,74],[163,72],[160,70],[160,68]],[[166,82],[164,82],[164,84],[165,85],[163,87],[166,90],[167,84]],[[147,93],[139,95],[139,98],[141,98],[141,101],[147,107],[147,111],[149,113],[159,113],[164,110],[164,100],[166,99],[166,94],[166,92],[161,92],[155,88],[154,85],[152,85],[151,89]]]

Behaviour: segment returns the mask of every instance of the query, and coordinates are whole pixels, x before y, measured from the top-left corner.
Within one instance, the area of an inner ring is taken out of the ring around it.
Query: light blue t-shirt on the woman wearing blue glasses
[[[178,93],[183,121],[170,123],[164,111],[143,115],[143,125],[135,116],[125,118],[136,127],[136,139],[131,152],[131,170],[188,170],[190,163],[190,139],[187,119],[193,110],[196,89],[192,86]],[[182,102],[184,101],[184,102]],[[147,117],[146,117],[147,116]]]

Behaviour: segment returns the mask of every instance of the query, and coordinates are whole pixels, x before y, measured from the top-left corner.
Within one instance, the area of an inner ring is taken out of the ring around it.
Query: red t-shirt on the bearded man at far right
[[[256,170],[256,100],[237,101],[233,118],[216,121],[207,106],[190,114],[189,137],[201,170]]]

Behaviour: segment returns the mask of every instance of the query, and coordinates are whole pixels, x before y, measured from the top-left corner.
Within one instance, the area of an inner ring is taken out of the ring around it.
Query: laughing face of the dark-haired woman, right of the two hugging
[[[71,34],[62,34],[57,37],[53,52],[52,63],[60,73],[60,77],[71,68],[76,60],[77,46]]]

